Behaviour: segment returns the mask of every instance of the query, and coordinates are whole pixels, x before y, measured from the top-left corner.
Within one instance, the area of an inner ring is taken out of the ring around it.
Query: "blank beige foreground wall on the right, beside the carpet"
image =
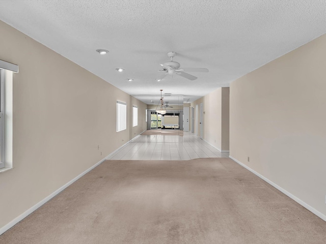
[[[323,215],[325,53],[326,35],[237,79],[230,88],[230,156]]]

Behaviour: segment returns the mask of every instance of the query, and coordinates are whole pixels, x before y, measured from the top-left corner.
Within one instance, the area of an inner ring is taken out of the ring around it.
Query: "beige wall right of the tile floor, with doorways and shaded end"
[[[229,150],[229,91],[229,87],[218,88],[191,104],[191,107],[195,107],[195,113],[198,105],[199,113],[200,104],[203,103],[203,139],[222,151]],[[199,128],[195,118],[195,134]]]

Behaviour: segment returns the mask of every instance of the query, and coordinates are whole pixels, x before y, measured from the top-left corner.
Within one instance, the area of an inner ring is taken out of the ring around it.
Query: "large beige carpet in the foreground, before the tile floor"
[[[326,243],[326,222],[227,158],[105,161],[0,243]]]

